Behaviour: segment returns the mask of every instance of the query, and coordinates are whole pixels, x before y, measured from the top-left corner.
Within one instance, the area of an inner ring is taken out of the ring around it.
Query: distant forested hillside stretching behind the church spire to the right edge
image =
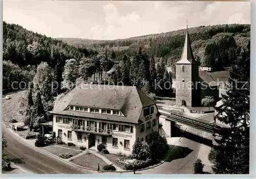
[[[88,40],[61,38],[61,40],[76,47],[86,47],[102,51],[105,48],[113,50],[118,61],[124,54],[135,56],[139,47],[145,49],[145,52],[154,55],[156,62],[164,58],[168,66],[177,62],[182,53],[182,47],[185,40],[185,29],[132,37],[118,40]],[[212,26],[201,26],[189,28],[189,38],[193,48],[194,56],[202,65],[208,64],[215,70],[222,70],[230,66],[230,61],[234,59],[236,50],[241,46],[248,46],[250,42],[249,24],[223,24]]]

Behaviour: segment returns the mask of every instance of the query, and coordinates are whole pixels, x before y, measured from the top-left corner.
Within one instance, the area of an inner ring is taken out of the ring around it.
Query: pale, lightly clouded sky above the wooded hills
[[[250,23],[250,2],[4,1],[3,18],[53,38],[113,40]]]

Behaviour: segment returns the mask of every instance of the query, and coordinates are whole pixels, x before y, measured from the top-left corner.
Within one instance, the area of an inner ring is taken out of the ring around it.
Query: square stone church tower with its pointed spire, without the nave
[[[180,60],[176,63],[176,105],[200,106],[199,63],[194,59],[188,29]]]

